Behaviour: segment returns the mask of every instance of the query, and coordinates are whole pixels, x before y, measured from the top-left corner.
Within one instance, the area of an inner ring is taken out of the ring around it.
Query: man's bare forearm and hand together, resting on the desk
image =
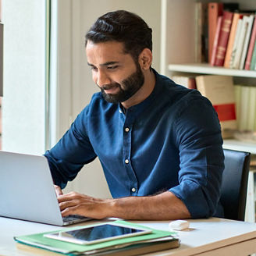
[[[62,216],[83,215],[93,219],[116,217],[121,219],[189,219],[186,205],[172,192],[148,197],[98,199],[70,192],[58,197]]]

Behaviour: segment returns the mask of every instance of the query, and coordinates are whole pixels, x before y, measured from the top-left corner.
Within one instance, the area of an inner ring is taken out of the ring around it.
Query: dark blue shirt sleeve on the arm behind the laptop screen
[[[87,108],[84,108],[55,147],[44,154],[54,183],[62,188],[76,177],[85,164],[97,157],[87,137],[86,115]]]

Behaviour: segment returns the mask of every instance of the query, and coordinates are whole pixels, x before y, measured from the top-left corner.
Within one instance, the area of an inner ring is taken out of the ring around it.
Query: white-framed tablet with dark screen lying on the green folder
[[[135,228],[118,223],[104,223],[83,228],[80,227],[79,229],[69,231],[62,230],[56,233],[47,233],[44,236],[75,244],[96,244],[128,236],[144,235],[151,232],[151,229]]]

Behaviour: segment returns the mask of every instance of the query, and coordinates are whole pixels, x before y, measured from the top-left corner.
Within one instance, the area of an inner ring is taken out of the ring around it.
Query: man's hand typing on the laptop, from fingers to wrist
[[[70,192],[58,197],[59,208],[62,216],[82,215],[94,219],[110,217],[108,210],[111,208],[111,199],[98,199],[85,194]]]

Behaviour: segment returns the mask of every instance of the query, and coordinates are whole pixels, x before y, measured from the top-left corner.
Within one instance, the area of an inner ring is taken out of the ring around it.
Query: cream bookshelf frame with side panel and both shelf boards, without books
[[[195,63],[197,51],[196,2],[198,1],[162,0],[161,73],[165,76],[183,73],[233,76],[234,80],[239,80],[240,83],[256,85],[256,71],[227,69],[211,66],[208,63]],[[240,0],[236,2],[239,3],[241,9],[256,9],[256,1]],[[249,151],[256,155],[256,144],[246,141],[224,140],[223,148]]]

